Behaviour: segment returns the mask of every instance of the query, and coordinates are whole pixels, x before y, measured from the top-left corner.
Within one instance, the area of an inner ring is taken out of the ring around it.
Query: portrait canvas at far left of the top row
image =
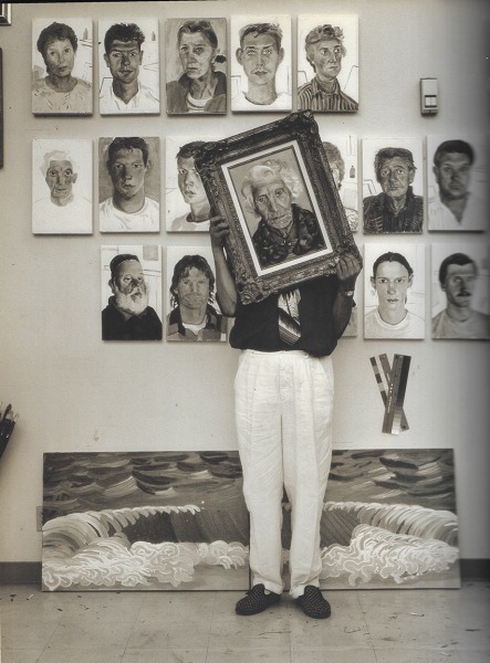
[[[92,115],[92,19],[32,21],[32,113]]]

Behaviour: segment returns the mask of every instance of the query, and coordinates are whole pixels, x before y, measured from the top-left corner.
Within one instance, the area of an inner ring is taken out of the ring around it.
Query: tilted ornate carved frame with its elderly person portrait
[[[206,143],[195,164],[212,215],[230,224],[243,304],[334,274],[341,253],[361,260],[312,113]]]

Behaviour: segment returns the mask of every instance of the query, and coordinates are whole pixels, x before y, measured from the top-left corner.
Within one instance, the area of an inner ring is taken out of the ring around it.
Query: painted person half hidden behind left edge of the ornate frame
[[[177,185],[189,211],[173,219],[169,231],[208,231],[210,204],[200,175],[194,162],[195,148],[204,140],[183,145],[177,152]]]

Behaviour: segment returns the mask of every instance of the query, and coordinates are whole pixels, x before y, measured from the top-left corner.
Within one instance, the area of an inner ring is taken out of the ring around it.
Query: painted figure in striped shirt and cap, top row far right
[[[346,55],[338,25],[316,25],[305,36],[306,61],[314,77],[298,90],[299,110],[355,112],[358,103],[341,90],[338,74]]]

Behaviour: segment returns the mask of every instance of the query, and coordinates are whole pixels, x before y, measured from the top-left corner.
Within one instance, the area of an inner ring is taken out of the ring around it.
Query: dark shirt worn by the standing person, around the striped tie
[[[279,295],[269,295],[253,304],[237,304],[230,345],[241,350],[304,350],[314,357],[331,355],[337,345],[333,320],[333,305],[338,292],[335,275],[319,276],[298,286],[301,293],[301,338],[294,346],[279,336]]]

